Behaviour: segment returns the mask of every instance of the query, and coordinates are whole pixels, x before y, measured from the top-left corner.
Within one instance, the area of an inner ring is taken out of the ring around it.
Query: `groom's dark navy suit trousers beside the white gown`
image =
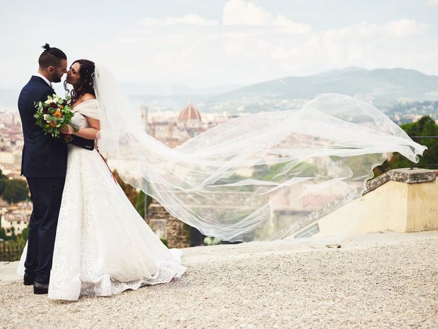
[[[26,179],[34,209],[29,221],[25,272],[36,282],[48,284],[65,177]]]

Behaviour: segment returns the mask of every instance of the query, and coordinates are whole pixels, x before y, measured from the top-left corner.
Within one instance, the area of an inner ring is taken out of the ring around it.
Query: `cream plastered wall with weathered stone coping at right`
[[[382,231],[438,230],[438,181],[435,171],[394,169],[367,182],[363,197],[349,204],[336,202],[311,213],[285,239],[315,228],[315,237],[346,236]]]

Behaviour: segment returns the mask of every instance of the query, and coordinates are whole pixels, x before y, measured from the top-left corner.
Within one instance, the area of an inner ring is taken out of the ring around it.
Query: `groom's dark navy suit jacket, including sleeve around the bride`
[[[34,102],[46,101],[55,91],[42,78],[32,76],[18,97],[18,111],[23,127],[24,146],[21,175],[26,177],[65,177],[67,145],[64,138],[44,134],[36,125]],[[75,145],[93,149],[94,141],[74,136]],[[92,145],[92,146],[91,146]]]

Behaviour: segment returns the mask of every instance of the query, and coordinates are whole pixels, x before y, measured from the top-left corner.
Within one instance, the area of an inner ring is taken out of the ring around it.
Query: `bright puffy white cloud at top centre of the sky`
[[[224,25],[274,26],[279,32],[308,33],[311,27],[296,23],[284,15],[274,16],[272,12],[247,0],[229,0],[224,6],[222,14]]]

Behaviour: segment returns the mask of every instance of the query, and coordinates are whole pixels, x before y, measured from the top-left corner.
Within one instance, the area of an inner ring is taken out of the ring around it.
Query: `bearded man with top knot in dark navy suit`
[[[25,261],[25,285],[34,285],[34,293],[47,293],[53,258],[57,217],[66,178],[67,145],[64,138],[45,135],[34,118],[34,102],[53,95],[52,82],[61,82],[67,72],[66,54],[44,45],[38,59],[38,73],[21,90],[18,111],[23,126],[24,146],[21,175],[24,175],[33,203],[29,221],[29,240]],[[93,149],[94,141],[75,136],[73,144]]]

